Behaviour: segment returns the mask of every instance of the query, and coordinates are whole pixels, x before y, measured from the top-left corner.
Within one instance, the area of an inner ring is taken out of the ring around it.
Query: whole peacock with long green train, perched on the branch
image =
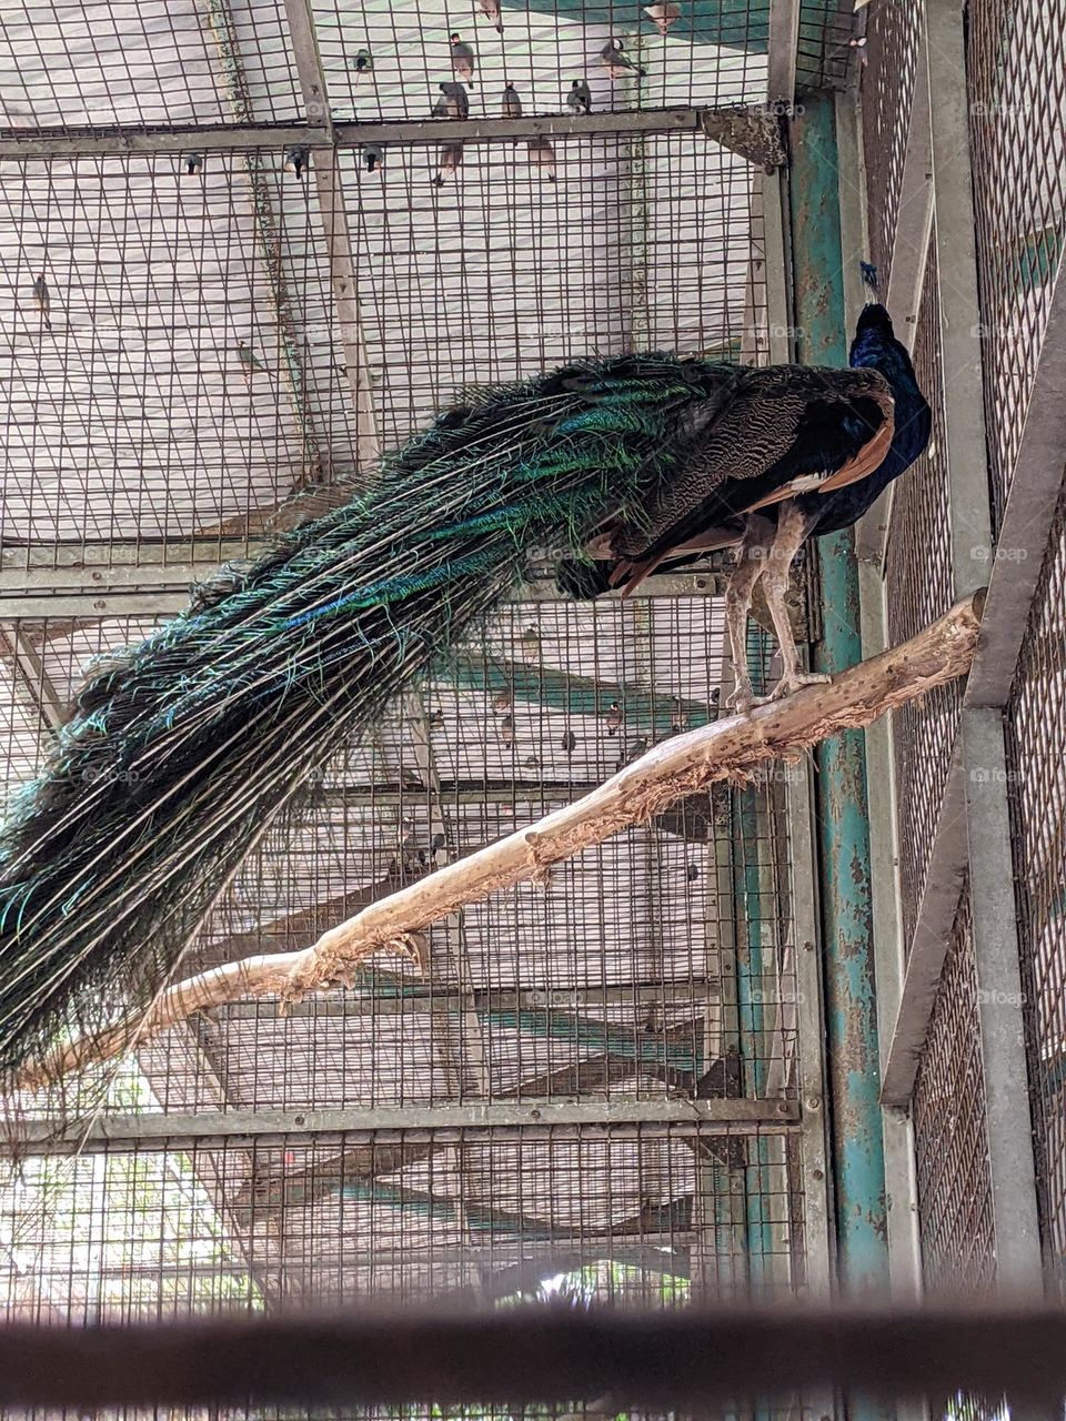
[[[920,422],[881,307],[853,361],[638,354],[466,391],[347,504],[91,669],[0,830],[0,1080],[151,1002],[279,814],[476,637],[532,551],[631,590],[723,531],[776,568],[810,527],[851,522]]]

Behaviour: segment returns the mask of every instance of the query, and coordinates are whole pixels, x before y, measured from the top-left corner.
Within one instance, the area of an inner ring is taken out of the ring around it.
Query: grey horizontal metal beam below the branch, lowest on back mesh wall
[[[82,1150],[213,1148],[331,1137],[351,1142],[372,1137],[384,1144],[389,1137],[414,1144],[419,1137],[443,1141],[446,1133],[469,1140],[520,1130],[522,1138],[543,1131],[557,1138],[607,1130],[645,1135],[672,1134],[688,1128],[699,1134],[750,1134],[769,1127],[779,1130],[799,1118],[795,1103],[785,1100],[556,1100],[540,1104],[469,1104],[382,1107],[379,1110],[233,1110],[202,1114],[99,1115],[88,1125],[57,1127],[50,1120],[20,1125],[18,1138],[0,1145],[3,1154],[75,1154]]]

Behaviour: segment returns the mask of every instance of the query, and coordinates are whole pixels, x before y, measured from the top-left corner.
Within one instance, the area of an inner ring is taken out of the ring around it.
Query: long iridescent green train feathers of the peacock
[[[223,568],[99,666],[0,830],[0,1077],[146,1005],[313,772],[520,581],[668,479],[735,374],[586,361],[468,392],[347,506]]]

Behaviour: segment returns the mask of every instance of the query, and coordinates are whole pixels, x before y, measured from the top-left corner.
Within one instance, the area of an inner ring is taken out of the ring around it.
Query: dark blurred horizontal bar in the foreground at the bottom
[[[561,1401],[696,1407],[831,1385],[890,1398],[1006,1395],[1060,1414],[1066,1310],[748,1304],[213,1317],[0,1330],[7,1407]]]

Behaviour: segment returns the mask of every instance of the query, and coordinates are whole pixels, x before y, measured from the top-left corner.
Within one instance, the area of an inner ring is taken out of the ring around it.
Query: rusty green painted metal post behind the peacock
[[[804,98],[792,128],[790,215],[797,348],[807,364],[847,362],[840,175],[833,97]],[[846,253],[857,260],[858,253]],[[819,671],[861,659],[858,568],[851,531],[819,543],[823,639]],[[817,753],[817,838],[840,1283],[888,1287],[884,1144],[870,882],[866,745],[860,732]]]

